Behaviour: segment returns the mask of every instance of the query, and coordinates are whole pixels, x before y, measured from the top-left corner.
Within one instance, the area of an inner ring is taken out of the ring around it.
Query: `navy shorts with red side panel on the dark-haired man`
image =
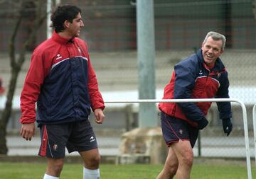
[[[68,152],[88,151],[97,148],[97,140],[89,120],[57,125],[41,125],[39,156],[64,158]]]

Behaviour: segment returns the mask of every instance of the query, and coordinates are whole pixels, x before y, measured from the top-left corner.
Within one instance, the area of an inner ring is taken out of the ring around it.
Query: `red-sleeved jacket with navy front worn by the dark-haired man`
[[[91,108],[103,110],[105,104],[85,41],[54,32],[32,54],[21,92],[20,121],[41,125],[87,120]]]

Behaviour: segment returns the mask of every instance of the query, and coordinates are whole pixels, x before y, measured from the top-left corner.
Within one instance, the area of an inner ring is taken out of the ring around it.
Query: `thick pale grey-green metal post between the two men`
[[[155,98],[154,1],[137,1],[139,99]],[[139,127],[157,126],[156,105],[139,104]]]

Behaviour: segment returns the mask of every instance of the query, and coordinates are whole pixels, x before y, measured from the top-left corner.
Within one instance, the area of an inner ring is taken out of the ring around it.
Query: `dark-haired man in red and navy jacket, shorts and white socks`
[[[36,120],[41,131],[38,155],[48,161],[44,179],[60,177],[65,147],[79,152],[84,178],[97,179],[100,154],[88,116],[92,108],[95,121],[102,124],[105,104],[87,46],[77,38],[84,26],[81,10],[58,6],[51,21],[53,35],[34,50],[21,93],[21,136],[32,139]]]

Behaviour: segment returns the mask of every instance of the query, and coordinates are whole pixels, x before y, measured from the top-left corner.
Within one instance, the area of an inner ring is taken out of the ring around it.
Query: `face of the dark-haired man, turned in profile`
[[[64,24],[65,33],[69,37],[78,37],[80,35],[80,29],[84,26],[80,13],[78,13],[78,16],[73,19],[72,23],[70,23],[69,21],[65,21]]]

